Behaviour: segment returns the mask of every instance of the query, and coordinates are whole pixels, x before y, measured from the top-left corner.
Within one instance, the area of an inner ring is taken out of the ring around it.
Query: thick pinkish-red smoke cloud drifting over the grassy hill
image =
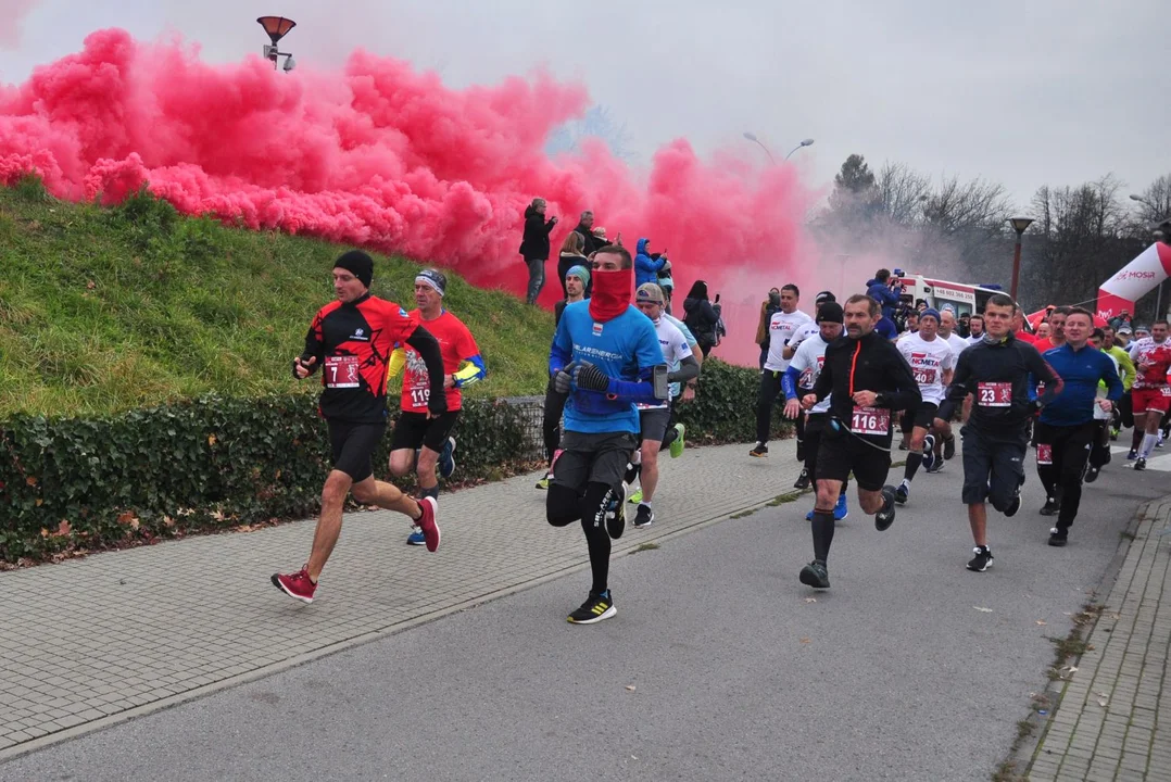
[[[602,144],[550,159],[547,136],[588,101],[543,75],[454,90],[361,50],[341,73],[210,66],[196,47],[108,29],[0,87],[0,181],[36,170],[60,198],[105,203],[149,183],[186,213],[393,251],[518,294],[522,215],[541,196],[562,218],[543,302],[586,208],[628,247],[670,248],[680,304],[696,279],[756,301],[785,281],[809,198],[794,169],[703,162],[685,140],[642,176]]]

